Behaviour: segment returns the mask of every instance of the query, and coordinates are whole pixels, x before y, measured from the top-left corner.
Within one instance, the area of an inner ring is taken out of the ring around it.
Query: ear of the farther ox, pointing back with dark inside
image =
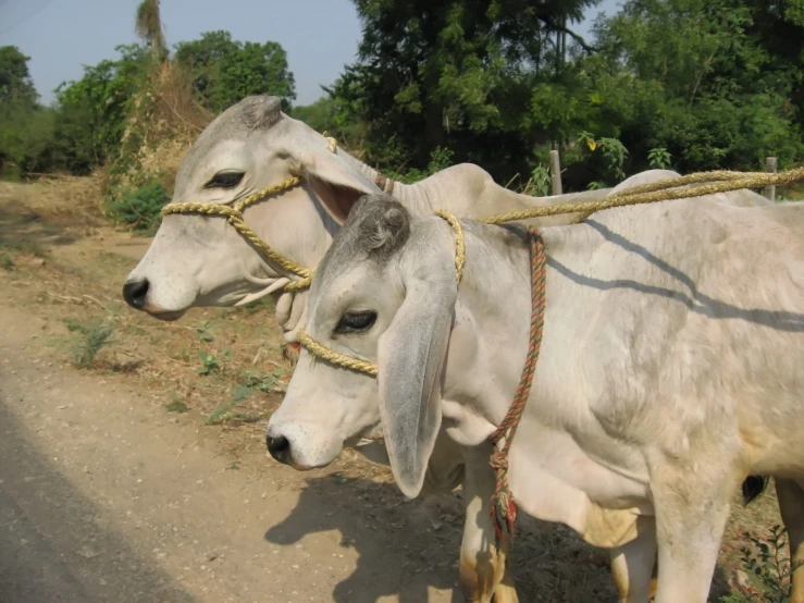
[[[379,193],[380,188],[364,176],[357,164],[330,141],[312,131],[309,140],[295,145],[292,153],[298,162],[297,173],[310,182],[324,210],[343,225],[352,207],[362,195]]]

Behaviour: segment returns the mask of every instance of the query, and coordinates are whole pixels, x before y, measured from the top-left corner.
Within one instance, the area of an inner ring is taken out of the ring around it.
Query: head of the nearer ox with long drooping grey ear
[[[376,361],[378,379],[307,350],[271,417],[268,446],[297,468],[327,465],[344,445],[383,428],[395,479],[418,494],[441,427],[441,377],[457,298],[450,231],[418,222],[387,196],[358,202],[320,264],[309,335]]]

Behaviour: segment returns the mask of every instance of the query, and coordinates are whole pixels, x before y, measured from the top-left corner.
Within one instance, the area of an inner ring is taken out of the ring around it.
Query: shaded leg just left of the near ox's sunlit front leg
[[[653,517],[636,519],[638,537],[621,546],[609,550],[611,577],[617,586],[619,603],[647,603],[653,596],[656,580],[656,524]]]

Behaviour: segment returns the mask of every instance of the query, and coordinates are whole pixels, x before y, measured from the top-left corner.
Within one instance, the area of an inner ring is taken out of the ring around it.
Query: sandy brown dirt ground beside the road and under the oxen
[[[94,525],[197,601],[461,601],[460,490],[405,501],[349,451],[305,473],[274,463],[264,426],[289,369],[270,303],[176,323],[135,312],[120,290],[146,247],[0,189],[0,402]],[[734,500],[713,601],[753,590],[741,534],[779,522],[772,484]],[[111,554],[75,542],[85,565]],[[606,555],[560,526],[522,518],[511,563],[525,603],[616,600]]]

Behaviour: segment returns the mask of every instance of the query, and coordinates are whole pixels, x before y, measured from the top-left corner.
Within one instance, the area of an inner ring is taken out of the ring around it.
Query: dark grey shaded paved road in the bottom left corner
[[[30,444],[0,401],[0,603],[189,603]]]

